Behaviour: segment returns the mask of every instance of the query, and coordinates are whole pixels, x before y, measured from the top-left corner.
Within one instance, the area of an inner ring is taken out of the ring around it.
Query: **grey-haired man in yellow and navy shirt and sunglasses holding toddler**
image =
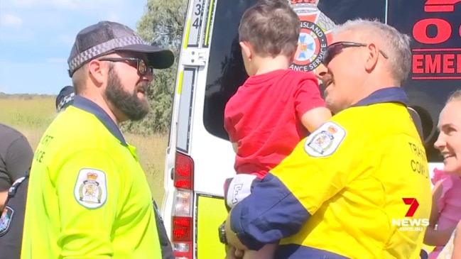
[[[278,243],[278,259],[419,258],[425,227],[394,223],[406,219],[403,198],[419,203],[412,219],[428,219],[431,207],[425,150],[401,88],[409,41],[379,21],[334,29],[318,73],[335,116],[234,206],[224,243]]]

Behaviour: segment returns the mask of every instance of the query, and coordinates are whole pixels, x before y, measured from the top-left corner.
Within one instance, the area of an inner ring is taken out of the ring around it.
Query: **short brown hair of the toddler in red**
[[[297,48],[300,20],[287,0],[259,0],[246,10],[239,26],[239,41],[246,41],[262,56],[291,57]]]

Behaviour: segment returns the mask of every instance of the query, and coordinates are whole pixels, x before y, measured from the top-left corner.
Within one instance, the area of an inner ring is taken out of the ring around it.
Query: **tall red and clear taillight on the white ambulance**
[[[188,155],[176,152],[173,182],[173,250],[177,259],[192,259],[194,161]]]

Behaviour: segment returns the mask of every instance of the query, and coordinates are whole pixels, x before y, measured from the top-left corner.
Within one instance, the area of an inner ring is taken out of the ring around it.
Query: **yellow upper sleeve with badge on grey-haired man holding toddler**
[[[366,138],[360,129],[348,130],[328,121],[301,141],[271,173],[312,215],[362,171],[361,161],[372,155],[367,151]]]

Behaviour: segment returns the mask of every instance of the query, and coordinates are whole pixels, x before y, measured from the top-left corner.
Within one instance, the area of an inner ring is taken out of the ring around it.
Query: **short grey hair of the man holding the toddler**
[[[381,23],[378,20],[364,20],[357,18],[349,20],[333,29],[337,35],[345,31],[364,33],[363,40],[378,39],[379,48],[389,57],[389,70],[396,84],[402,85],[411,70],[411,38],[400,33],[396,28]]]

